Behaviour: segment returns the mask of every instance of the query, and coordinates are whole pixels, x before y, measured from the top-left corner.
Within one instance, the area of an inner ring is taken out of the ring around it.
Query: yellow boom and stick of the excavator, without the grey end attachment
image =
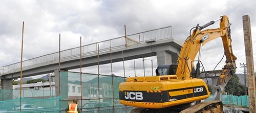
[[[191,77],[191,70],[192,65],[191,62],[195,60],[196,55],[201,50],[202,46],[207,42],[214,40],[216,38],[221,37],[223,42],[223,47],[226,56],[226,65],[230,65],[230,68],[233,68],[231,71],[233,73],[236,72],[236,63],[235,60],[237,59],[236,56],[232,53],[232,46],[231,46],[231,38],[230,38],[230,29],[229,29],[229,21],[227,16],[221,16],[220,18],[220,28],[218,29],[207,29],[201,31],[203,28],[214,24],[214,21],[209,22],[208,24],[202,27],[196,27],[191,34],[184,42],[181,48],[181,54],[178,58],[178,67],[177,73],[179,79],[188,79]],[[200,53],[199,53],[200,57]],[[219,80],[219,82],[222,82]]]

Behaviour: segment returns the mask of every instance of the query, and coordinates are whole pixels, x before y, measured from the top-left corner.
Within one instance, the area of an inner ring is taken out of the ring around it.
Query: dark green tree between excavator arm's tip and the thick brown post
[[[244,95],[244,85],[240,83],[239,77],[234,74],[231,79],[228,81],[225,92],[228,92],[228,94],[232,94],[235,96],[241,96]]]

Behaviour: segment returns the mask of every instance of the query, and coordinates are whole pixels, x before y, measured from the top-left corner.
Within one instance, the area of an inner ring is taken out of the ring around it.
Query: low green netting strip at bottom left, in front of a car
[[[0,101],[0,112],[19,112],[20,99],[22,112],[60,112],[61,98],[48,99],[16,98]]]

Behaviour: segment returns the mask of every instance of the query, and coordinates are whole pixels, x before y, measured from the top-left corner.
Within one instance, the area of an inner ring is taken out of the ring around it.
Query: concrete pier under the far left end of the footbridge
[[[11,100],[12,99],[12,79],[1,79],[2,90],[1,100]]]

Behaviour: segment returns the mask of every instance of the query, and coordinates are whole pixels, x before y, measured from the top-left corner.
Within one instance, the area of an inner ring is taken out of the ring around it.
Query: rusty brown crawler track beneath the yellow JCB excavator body
[[[191,104],[182,104],[161,109],[150,109],[137,107],[131,110],[130,113],[222,113],[223,105],[221,101],[201,102],[191,106]]]

